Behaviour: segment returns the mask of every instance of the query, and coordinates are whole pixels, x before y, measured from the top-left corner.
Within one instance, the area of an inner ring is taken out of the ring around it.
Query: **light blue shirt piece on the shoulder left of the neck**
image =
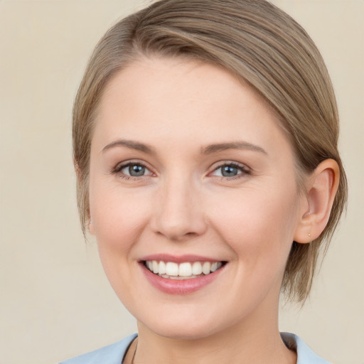
[[[65,360],[60,364],[120,364],[124,358],[127,348],[137,337],[137,334],[128,336],[122,341],[105,346],[90,353],[76,356],[75,358]]]

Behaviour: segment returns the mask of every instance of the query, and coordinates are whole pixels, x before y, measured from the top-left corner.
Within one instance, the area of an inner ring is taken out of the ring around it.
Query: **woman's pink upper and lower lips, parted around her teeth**
[[[207,275],[203,275],[201,277],[197,278],[191,278],[191,279],[167,279],[159,277],[158,274],[154,274],[149,269],[147,269],[144,265],[145,261],[149,260],[156,260],[164,262],[176,262],[176,263],[183,263],[183,262],[219,262],[219,260],[216,259],[210,259],[207,257],[200,257],[196,255],[182,255],[182,256],[172,256],[172,255],[149,255],[147,257],[144,257],[141,259],[140,267],[143,270],[143,273],[145,274],[146,279],[149,280],[152,286],[156,287],[156,289],[159,289],[160,291],[163,291],[167,294],[191,294],[194,291],[198,291],[199,289],[202,289],[207,284],[210,284],[213,282],[220,272],[222,272],[223,267],[216,270],[215,272],[212,272]]]

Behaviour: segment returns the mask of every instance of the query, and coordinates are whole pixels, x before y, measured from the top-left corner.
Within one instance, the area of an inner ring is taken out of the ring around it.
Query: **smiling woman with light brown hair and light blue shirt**
[[[97,45],[73,115],[84,232],[138,336],[64,363],[327,363],[278,331],[346,204],[338,113],[267,1],[162,0]]]

